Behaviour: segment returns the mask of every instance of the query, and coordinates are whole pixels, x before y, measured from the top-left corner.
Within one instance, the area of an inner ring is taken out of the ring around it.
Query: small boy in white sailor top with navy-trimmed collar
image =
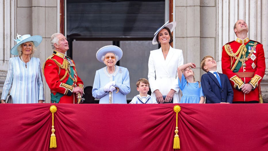
[[[136,85],[139,95],[136,95],[129,104],[157,104],[157,101],[152,100],[151,96],[147,94],[150,87],[147,79],[139,79]]]

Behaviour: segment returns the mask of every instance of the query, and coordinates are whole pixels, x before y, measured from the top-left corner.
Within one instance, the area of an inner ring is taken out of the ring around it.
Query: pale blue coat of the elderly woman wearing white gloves
[[[127,94],[130,92],[129,71],[125,67],[115,66],[113,74],[108,73],[107,66],[96,71],[92,95],[99,99],[100,104],[109,104],[109,92],[104,92],[104,86],[115,81],[115,87],[119,88],[112,92],[111,103],[127,104]]]

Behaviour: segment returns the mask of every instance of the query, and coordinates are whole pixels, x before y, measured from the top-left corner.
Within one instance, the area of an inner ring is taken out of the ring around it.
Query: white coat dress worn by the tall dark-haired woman
[[[156,99],[155,90],[167,95],[171,89],[175,90],[173,103],[179,103],[181,93],[178,85],[177,67],[183,65],[182,50],[170,46],[169,53],[164,59],[162,48],[152,50],[148,62],[148,81],[152,91],[152,99]]]

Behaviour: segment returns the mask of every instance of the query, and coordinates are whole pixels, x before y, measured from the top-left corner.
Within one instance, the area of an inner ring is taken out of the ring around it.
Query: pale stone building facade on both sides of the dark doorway
[[[17,33],[43,37],[35,53],[35,57],[39,57],[43,64],[52,54],[51,35],[60,32],[61,27],[66,27],[66,20],[60,21],[60,9],[64,8],[64,4],[66,1],[63,0],[4,0],[0,3],[0,93],[9,58],[14,57],[10,49],[15,45],[13,39]],[[183,50],[184,63],[194,62],[197,65],[194,69],[197,80],[204,74],[200,61],[206,55],[215,57],[218,71],[221,72],[222,46],[236,39],[234,23],[238,19],[245,20],[249,27],[249,39],[259,41],[265,51],[266,71],[261,88],[263,99],[268,103],[268,0],[166,0],[165,7],[167,5],[171,6],[168,10],[173,11],[173,21],[177,21],[173,47]],[[165,20],[168,20],[168,15],[165,15]],[[146,76],[146,72],[144,74]],[[50,90],[45,78],[43,82],[46,103],[49,103]],[[135,86],[131,88],[135,91]]]

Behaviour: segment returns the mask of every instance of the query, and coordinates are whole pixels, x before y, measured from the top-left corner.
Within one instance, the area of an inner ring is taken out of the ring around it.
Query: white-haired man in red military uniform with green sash
[[[83,95],[83,81],[77,76],[74,61],[65,55],[69,49],[61,33],[51,36],[53,54],[43,65],[43,73],[51,91],[51,103],[77,103]]]

